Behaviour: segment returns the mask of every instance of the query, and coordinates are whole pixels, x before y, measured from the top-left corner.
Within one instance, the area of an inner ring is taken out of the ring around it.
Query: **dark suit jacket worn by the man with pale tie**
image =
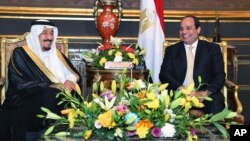
[[[184,82],[187,71],[187,58],[183,42],[178,42],[166,48],[160,71],[160,81],[169,83],[169,89],[176,90]],[[223,57],[220,46],[199,40],[194,62],[193,79],[198,87],[198,76],[202,83],[208,84],[207,90],[217,93],[225,82]]]

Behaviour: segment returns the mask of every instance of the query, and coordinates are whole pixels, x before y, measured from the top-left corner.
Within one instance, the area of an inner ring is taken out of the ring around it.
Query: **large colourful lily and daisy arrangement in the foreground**
[[[225,108],[216,115],[195,117],[189,110],[204,105],[190,95],[196,90],[194,85],[176,92],[168,92],[167,86],[120,74],[117,80],[94,83],[91,101],[79,100],[68,91],[60,92],[58,96],[64,98],[59,104],[67,104],[66,109],[61,111],[62,115],[41,108],[46,115],[38,117],[55,120],[44,135],[53,133],[55,136],[102,137],[109,140],[181,137],[191,141],[197,140],[196,131],[210,133],[208,126],[213,125],[225,138],[228,137],[224,124],[229,123],[225,119],[234,117],[236,113]],[[67,126],[67,129],[54,132],[61,125]]]

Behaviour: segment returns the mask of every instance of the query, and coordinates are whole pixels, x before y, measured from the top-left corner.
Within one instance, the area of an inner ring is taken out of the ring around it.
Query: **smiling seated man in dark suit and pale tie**
[[[197,97],[209,96],[213,101],[204,102],[205,113],[218,113],[224,109],[224,96],[221,89],[225,82],[223,57],[220,46],[199,40],[201,32],[199,19],[186,16],[180,23],[181,41],[166,48],[159,78],[162,83],[169,83],[169,89],[180,90],[195,83],[201,76],[202,89],[192,92]]]

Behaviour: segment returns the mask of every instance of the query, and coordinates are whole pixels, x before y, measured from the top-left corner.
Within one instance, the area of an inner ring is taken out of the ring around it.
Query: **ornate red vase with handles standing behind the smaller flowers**
[[[103,11],[98,14],[98,9]],[[113,13],[113,9],[118,9],[118,14]],[[121,0],[96,0],[94,3],[94,16],[97,31],[103,40],[103,45],[109,44],[110,37],[113,36],[118,28],[121,19]]]

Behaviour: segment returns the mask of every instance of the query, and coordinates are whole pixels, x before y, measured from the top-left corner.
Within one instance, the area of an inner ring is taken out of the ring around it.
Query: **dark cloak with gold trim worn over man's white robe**
[[[80,86],[81,78],[65,55],[57,50],[57,56],[76,77]],[[36,117],[41,114],[40,107],[46,107],[52,112],[60,113],[60,99],[56,94],[60,90],[51,88],[56,82],[53,74],[28,46],[18,47],[13,51],[8,65],[8,89],[3,104],[4,109],[21,109],[24,113],[27,130],[41,130],[43,122]]]

